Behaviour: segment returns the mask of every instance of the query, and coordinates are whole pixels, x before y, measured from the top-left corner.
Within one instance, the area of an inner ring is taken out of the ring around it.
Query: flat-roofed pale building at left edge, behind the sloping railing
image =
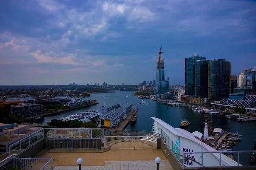
[[[0,123],[0,155],[8,152],[11,144],[40,130],[41,127],[30,128],[29,125]],[[2,161],[0,159],[0,161]]]

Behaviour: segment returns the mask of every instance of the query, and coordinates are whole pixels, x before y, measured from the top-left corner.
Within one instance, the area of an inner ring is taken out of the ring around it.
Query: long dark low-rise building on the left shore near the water
[[[35,103],[20,103],[19,105],[12,105],[12,115],[29,117],[42,114],[44,112],[44,105]]]

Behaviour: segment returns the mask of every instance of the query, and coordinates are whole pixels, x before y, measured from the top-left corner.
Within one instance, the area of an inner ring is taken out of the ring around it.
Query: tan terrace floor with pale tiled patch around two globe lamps
[[[53,167],[56,167],[56,170],[77,169],[78,158],[83,159],[82,170],[92,170],[92,167],[87,166],[93,166],[93,170],[150,170],[150,168],[155,170],[154,159],[160,157],[163,160],[163,164],[160,165],[160,167],[163,166],[161,170],[172,170],[172,166],[159,149],[110,149],[108,151],[50,149],[42,150],[36,157],[53,158]],[[119,168],[121,166],[123,168]]]

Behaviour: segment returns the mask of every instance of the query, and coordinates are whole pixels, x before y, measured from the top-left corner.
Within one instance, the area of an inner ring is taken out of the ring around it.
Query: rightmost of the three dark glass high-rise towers
[[[231,63],[225,59],[208,62],[208,100],[228,98],[231,93]]]

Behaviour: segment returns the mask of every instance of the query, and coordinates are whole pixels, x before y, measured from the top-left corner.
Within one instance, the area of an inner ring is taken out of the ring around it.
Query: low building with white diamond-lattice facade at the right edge
[[[244,108],[256,107],[256,95],[230,94],[228,99],[223,99],[226,105],[235,105]]]

